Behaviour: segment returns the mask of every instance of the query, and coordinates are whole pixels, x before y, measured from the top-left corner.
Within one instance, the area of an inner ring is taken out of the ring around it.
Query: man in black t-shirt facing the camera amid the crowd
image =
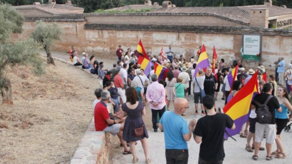
[[[214,75],[212,75],[212,69],[207,68],[207,73],[205,75],[204,90],[206,95],[215,98],[215,90],[217,89],[218,83]]]

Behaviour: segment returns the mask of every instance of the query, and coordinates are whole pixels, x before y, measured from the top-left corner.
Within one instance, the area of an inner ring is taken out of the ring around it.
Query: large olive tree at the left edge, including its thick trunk
[[[31,65],[38,75],[44,73],[36,42],[29,38],[10,42],[12,33],[22,32],[24,18],[10,5],[0,4],[0,92],[2,103],[13,104],[11,81],[6,68],[15,65]]]

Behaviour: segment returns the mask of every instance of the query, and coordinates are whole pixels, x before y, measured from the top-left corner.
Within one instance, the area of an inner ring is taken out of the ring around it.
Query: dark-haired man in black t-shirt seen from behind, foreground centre
[[[221,164],[225,157],[224,133],[226,127],[235,129],[233,120],[226,114],[215,111],[215,100],[211,96],[203,99],[207,115],[200,118],[193,132],[196,143],[201,143],[199,164]]]

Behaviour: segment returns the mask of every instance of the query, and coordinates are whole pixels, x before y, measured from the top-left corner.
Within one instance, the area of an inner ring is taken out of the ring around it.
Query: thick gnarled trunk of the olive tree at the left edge
[[[3,79],[3,82],[4,83],[1,88],[2,103],[13,104],[11,82],[6,78]]]

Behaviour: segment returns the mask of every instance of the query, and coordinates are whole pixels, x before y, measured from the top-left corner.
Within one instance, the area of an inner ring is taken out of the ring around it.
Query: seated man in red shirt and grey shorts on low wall
[[[96,131],[105,131],[112,135],[117,135],[120,139],[120,143],[124,146],[123,154],[131,154],[130,149],[127,147],[127,143],[123,140],[123,130],[125,118],[113,120],[109,117],[109,111],[107,109],[107,103],[111,98],[108,91],[101,93],[101,101],[96,104],[94,108],[94,125]]]

